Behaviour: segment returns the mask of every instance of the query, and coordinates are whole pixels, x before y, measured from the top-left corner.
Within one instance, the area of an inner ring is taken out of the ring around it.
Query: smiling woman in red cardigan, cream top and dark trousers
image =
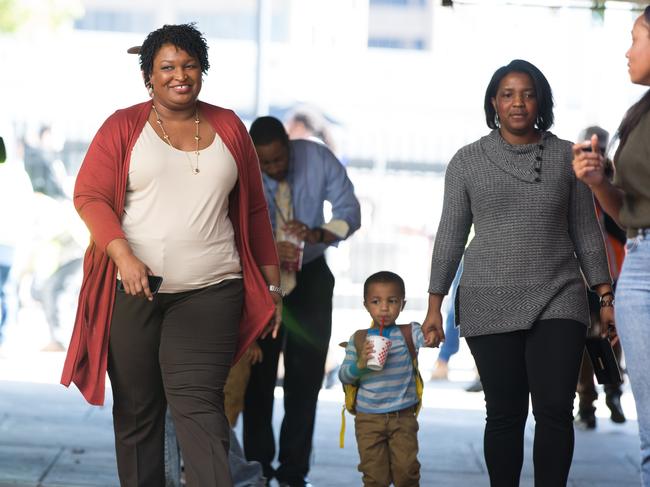
[[[92,238],[61,382],[102,404],[108,371],[122,486],[165,484],[167,405],[187,485],[228,486],[223,385],[281,316],[259,164],[239,118],[198,100],[193,25],[151,32],[139,54],[151,101],[106,120],[77,177]]]

